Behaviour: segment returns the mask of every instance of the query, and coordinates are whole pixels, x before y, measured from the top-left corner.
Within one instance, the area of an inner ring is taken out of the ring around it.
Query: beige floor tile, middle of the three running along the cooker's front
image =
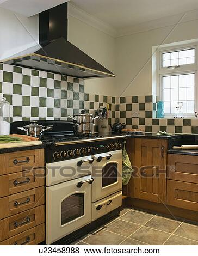
[[[116,221],[110,223],[107,226],[106,230],[112,231],[119,235],[129,236],[140,227],[141,226],[138,224],[129,223],[129,222],[122,221],[122,220],[116,220]]]

